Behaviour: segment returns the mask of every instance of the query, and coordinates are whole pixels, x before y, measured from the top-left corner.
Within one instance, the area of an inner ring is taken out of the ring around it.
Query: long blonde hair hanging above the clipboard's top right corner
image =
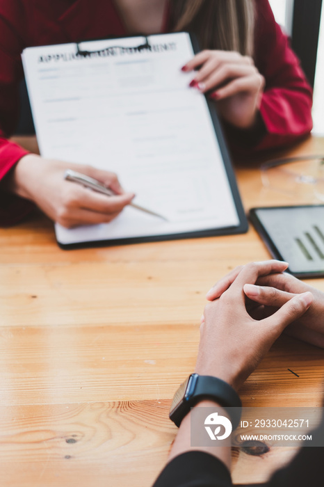
[[[192,31],[202,49],[238,51],[252,56],[253,0],[172,0],[174,31]]]

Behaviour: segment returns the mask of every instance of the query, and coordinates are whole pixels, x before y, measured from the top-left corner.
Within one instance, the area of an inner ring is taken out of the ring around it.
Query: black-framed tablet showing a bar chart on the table
[[[293,276],[324,277],[324,205],[252,208],[250,221]]]

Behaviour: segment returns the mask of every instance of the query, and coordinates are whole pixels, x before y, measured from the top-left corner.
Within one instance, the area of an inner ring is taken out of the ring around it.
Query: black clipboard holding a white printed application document
[[[170,224],[158,222],[127,207],[108,224],[71,230],[55,224],[60,248],[209,237],[248,230],[216,106],[208,97],[188,88],[193,73],[185,74],[180,69],[199,50],[195,37],[181,32],[29,47],[23,51],[42,156],[89,163],[91,150],[95,148],[93,165],[98,166],[99,161],[104,164],[101,168],[118,173],[122,186],[135,191],[134,202],[164,214],[170,221]],[[170,79],[163,78],[162,70],[169,66]],[[69,76],[74,81],[77,77],[83,86],[75,88],[69,84]],[[118,82],[113,86],[114,79]],[[108,95],[103,91],[107,83],[111,83]],[[104,93],[101,99],[100,93]],[[104,103],[110,109],[104,111]],[[91,104],[97,104],[97,112]],[[122,108],[115,111],[113,118],[111,113],[118,109],[118,104]],[[90,119],[92,116],[97,131],[91,132],[90,127],[90,134],[86,134],[83,112]],[[96,113],[102,125],[95,120]],[[146,126],[145,120],[149,121]],[[161,120],[165,120],[164,125]],[[140,124],[142,132],[137,128]],[[133,131],[127,132],[128,125]],[[111,138],[104,127],[111,130]],[[127,135],[115,147],[113,143],[122,131]],[[102,143],[105,137],[106,145]],[[129,140],[132,152],[127,155],[125,147]],[[184,141],[189,150],[184,148]],[[109,157],[107,150],[111,150]],[[123,156],[120,150],[124,151]],[[149,150],[154,161],[152,166],[147,163]],[[133,157],[128,166],[127,157]],[[168,170],[172,174],[169,179]],[[135,182],[138,188],[132,186],[136,186]]]

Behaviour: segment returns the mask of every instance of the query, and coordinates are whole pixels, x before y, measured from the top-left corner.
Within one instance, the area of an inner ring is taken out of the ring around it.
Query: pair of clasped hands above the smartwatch
[[[324,294],[284,273],[287,266],[276,260],[240,266],[211,288],[198,374],[238,389],[288,326],[289,333],[324,345]]]

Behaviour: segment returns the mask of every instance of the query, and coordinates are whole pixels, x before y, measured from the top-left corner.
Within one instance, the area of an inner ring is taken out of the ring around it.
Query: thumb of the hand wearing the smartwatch
[[[265,321],[280,334],[290,323],[300,318],[313,302],[313,295],[305,292],[293,296],[287,303]]]

